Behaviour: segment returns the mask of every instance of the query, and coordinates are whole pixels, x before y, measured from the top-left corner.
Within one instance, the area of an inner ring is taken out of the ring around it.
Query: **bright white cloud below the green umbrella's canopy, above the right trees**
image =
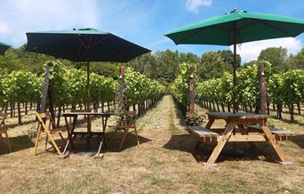
[[[288,54],[299,53],[304,44],[298,38],[284,37],[270,40],[254,41],[236,46],[236,53],[242,57],[242,62],[256,60],[263,49],[268,47],[284,47],[288,50]],[[233,46],[229,47],[233,51]]]

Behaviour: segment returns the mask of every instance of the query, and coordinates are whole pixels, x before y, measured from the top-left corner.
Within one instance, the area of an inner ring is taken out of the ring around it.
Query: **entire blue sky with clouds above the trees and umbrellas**
[[[98,28],[157,50],[179,50],[201,56],[225,46],[178,45],[164,36],[175,28],[205,20],[233,8],[304,20],[304,0],[0,0],[0,41],[18,47],[25,33],[51,29]],[[304,35],[238,46],[244,61],[268,46],[284,46],[290,53],[304,47]]]

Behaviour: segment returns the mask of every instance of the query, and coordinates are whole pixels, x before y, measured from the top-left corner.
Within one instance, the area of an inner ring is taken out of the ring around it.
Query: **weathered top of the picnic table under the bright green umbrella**
[[[253,114],[253,113],[246,113],[246,112],[236,112],[235,114],[232,112],[209,112],[207,113],[208,116],[215,117],[215,118],[258,118],[258,119],[265,119],[270,117],[269,115],[260,115],[260,114]]]

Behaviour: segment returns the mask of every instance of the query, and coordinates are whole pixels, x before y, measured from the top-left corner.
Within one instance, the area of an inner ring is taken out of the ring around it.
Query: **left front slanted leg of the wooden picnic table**
[[[230,121],[224,131],[224,133],[222,134],[220,141],[218,141],[217,146],[214,148],[214,150],[212,151],[212,155],[210,156],[210,158],[208,159],[206,165],[210,165],[213,166],[216,159],[219,157],[220,155],[220,151],[224,148],[226,142],[228,141],[231,133],[233,132],[234,127],[236,126],[236,122],[235,121]]]

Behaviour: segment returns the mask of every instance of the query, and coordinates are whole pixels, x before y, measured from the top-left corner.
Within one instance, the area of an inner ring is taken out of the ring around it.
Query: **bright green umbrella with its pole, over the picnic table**
[[[304,32],[304,20],[236,11],[197,22],[166,34],[175,44],[234,45],[233,111],[236,112],[236,44],[278,37],[294,37]]]

